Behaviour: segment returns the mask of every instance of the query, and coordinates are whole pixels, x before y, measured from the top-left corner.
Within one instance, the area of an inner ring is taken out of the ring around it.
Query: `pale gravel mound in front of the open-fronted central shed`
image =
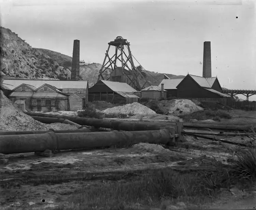
[[[141,116],[146,116],[146,115],[156,115],[156,112],[153,111],[152,109],[134,102],[132,104],[126,104],[123,106],[116,106],[113,108],[108,108],[102,111],[102,113],[105,114],[125,114],[125,115],[141,115]]]

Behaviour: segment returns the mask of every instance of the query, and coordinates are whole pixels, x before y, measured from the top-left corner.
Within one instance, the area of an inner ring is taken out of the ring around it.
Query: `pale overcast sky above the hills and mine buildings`
[[[175,75],[202,76],[203,42],[211,41],[221,86],[256,89],[255,2],[0,0],[0,23],[34,48],[69,56],[79,39],[80,59],[90,63],[102,64],[108,42],[122,36],[144,69]]]

